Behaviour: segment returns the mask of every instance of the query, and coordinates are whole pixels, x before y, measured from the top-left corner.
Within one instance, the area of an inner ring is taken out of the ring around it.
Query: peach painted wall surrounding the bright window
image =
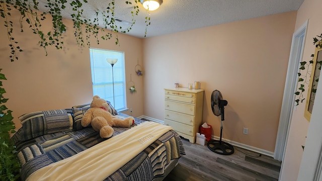
[[[19,20],[19,16],[13,15]],[[47,18],[49,19],[49,17]],[[0,68],[8,80],[3,81],[9,98],[7,107],[13,111],[14,121],[20,128],[18,117],[22,114],[49,109],[71,108],[74,105],[91,102],[93,98],[90,53],[88,47],[78,47],[72,31],[72,21],[64,20],[67,31],[64,35],[64,49],[48,48],[48,56],[37,43],[38,37],[30,30],[20,33],[19,25],[15,25],[15,37],[24,50],[19,53],[19,60],[10,61],[7,30],[0,18]],[[19,21],[18,21],[19,22]],[[45,22],[43,27],[51,27]],[[28,27],[28,25],[25,25]],[[127,106],[133,109],[133,116],[143,114],[143,78],[135,74],[135,65],[139,58],[142,64],[142,39],[124,34],[118,35],[120,46],[115,40],[96,43],[91,39],[92,47],[125,52],[126,81],[135,82],[137,93],[131,95],[127,91]]]

